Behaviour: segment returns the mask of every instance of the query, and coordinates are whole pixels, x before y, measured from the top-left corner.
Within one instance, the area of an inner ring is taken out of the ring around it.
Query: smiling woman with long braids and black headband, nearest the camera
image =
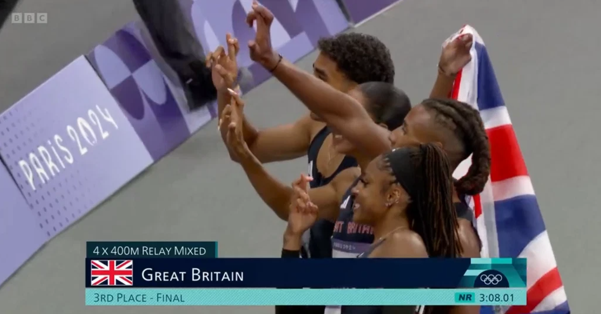
[[[293,184],[297,202],[290,207],[282,256],[298,256],[301,235],[316,221],[307,181]],[[457,258],[462,245],[457,228],[450,161],[434,143],[405,143],[367,166],[352,189],[353,223],[371,226],[374,241],[358,258]],[[323,308],[323,307],[322,307]],[[340,306],[342,314],[465,314],[469,307]],[[323,313],[308,307],[304,313]],[[277,312],[276,312],[277,313]],[[284,312],[280,312],[284,313]],[[286,312],[303,313],[303,312]]]

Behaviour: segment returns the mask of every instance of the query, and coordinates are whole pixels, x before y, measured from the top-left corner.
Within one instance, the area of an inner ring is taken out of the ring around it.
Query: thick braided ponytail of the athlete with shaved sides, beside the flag
[[[434,113],[435,122],[453,132],[462,144],[461,159],[472,155],[468,173],[455,182],[457,193],[477,195],[482,192],[490,174],[490,147],[478,110],[453,99],[429,98],[422,104]]]

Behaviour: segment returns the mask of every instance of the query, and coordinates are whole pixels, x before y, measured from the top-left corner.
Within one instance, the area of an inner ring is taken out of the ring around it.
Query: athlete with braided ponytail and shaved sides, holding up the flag
[[[273,20],[273,14],[261,5],[255,5],[253,10],[247,18],[257,23],[257,37],[252,42],[251,58],[272,71],[273,76],[332,128],[340,142],[348,142],[349,145],[354,146],[365,159],[371,160],[390,151],[393,145],[391,137],[395,139],[403,135],[407,125],[416,127],[413,132],[409,132],[409,136],[418,142],[440,142],[442,148],[450,154],[453,169],[472,152],[476,152],[472,157],[475,162],[472,162],[468,175],[457,183],[460,189],[456,190],[454,200],[458,215],[461,217],[460,235],[464,249],[463,256],[479,257],[480,241],[472,226],[473,215],[463,200],[463,194],[475,195],[481,192],[486,183],[483,178],[487,178],[490,171],[489,146],[480,115],[474,113],[474,110],[465,103],[453,102],[454,107],[446,110],[440,109],[444,105],[432,104],[444,104],[442,100],[430,99],[424,101],[426,103],[424,105],[413,107],[410,113],[415,115],[407,115],[404,119],[406,125],[401,126],[400,130],[393,131],[394,136],[390,136],[390,131],[374,123],[370,113],[356,97],[337,91],[278,55],[270,45],[269,25]],[[472,36],[469,34],[448,43],[442,52],[439,75],[430,97],[447,95],[453,86],[456,73],[471,61],[469,54],[471,46]],[[435,107],[436,109],[431,109]],[[433,115],[431,114],[433,112],[439,114]],[[474,134],[480,136],[474,137]],[[394,145],[398,147],[397,140]],[[474,148],[478,150],[474,151]],[[465,189],[466,187],[469,189]],[[354,257],[363,252],[366,244],[373,241],[373,235],[367,231],[368,229],[355,225],[350,225],[352,228],[348,228],[349,223],[352,223],[352,210],[348,211],[344,208],[352,208],[353,202],[350,196],[350,192],[343,196],[339,217],[334,226],[332,237],[334,257]],[[344,213],[347,213],[347,216],[344,216]]]

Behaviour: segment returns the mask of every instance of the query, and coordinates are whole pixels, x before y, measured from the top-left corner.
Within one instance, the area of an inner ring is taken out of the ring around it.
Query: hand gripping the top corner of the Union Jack
[[[472,34],[463,34],[450,41],[442,49],[441,59],[438,62],[440,70],[448,76],[454,76],[459,73],[472,60],[472,56],[469,53],[472,44],[474,44]]]

